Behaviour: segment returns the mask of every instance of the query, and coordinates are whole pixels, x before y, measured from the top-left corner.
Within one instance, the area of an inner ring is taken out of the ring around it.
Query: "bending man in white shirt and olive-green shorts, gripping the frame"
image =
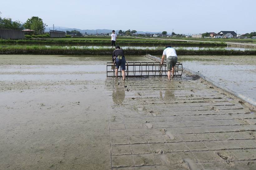
[[[167,76],[168,76],[168,79],[171,80],[171,78],[174,77],[175,65],[178,61],[178,57],[175,49],[171,48],[171,46],[166,46],[163,52],[161,64],[163,64],[165,57],[166,57],[166,65],[168,70]]]

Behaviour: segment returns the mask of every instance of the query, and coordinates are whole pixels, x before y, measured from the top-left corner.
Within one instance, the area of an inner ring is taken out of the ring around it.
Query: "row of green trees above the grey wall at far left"
[[[12,21],[12,18],[2,18],[1,14],[0,12],[0,29],[23,30],[26,28],[35,30],[36,33],[43,33],[47,26],[38,16],[32,16],[25,23],[22,23],[19,20]]]

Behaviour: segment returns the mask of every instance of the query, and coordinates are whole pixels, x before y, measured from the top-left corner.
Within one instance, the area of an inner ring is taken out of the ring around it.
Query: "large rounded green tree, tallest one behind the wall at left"
[[[37,33],[44,32],[46,26],[38,16],[32,16],[24,23],[25,28],[35,30]]]

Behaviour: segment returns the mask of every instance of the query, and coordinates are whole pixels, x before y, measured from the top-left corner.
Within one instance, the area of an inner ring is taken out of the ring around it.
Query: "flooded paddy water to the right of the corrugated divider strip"
[[[256,99],[256,65],[215,65],[211,61],[182,61],[182,64],[235,92]]]

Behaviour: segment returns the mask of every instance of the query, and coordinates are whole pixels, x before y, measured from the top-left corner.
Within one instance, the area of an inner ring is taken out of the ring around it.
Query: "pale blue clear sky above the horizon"
[[[176,34],[256,30],[255,0],[44,0],[2,1],[2,18],[25,22],[39,16],[48,26],[135,29]]]

